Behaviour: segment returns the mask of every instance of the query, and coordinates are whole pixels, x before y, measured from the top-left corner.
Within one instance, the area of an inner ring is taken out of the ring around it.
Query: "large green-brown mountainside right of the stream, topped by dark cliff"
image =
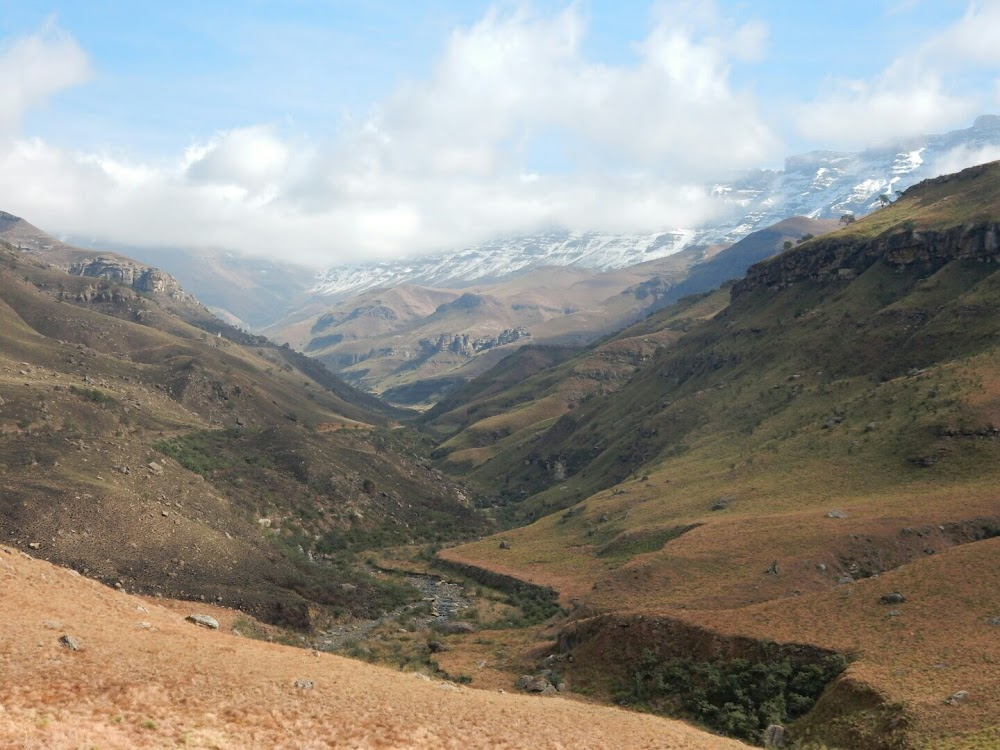
[[[512,526],[440,556],[557,589],[590,696],[756,741],[994,746],[998,261],[994,162],[583,352],[522,350],[425,415]]]

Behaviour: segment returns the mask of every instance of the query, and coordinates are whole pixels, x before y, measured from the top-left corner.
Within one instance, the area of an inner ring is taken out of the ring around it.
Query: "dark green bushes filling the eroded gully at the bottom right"
[[[784,725],[809,711],[846,667],[837,654],[807,663],[788,657],[699,662],[646,650],[620,699],[759,742],[769,724]]]

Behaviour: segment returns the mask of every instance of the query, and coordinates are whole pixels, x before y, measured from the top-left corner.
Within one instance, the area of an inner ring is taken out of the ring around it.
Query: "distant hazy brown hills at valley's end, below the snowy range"
[[[380,287],[265,332],[393,403],[430,404],[526,343],[585,344],[641,317],[718,250],[692,246],[604,273],[541,267],[464,289]]]

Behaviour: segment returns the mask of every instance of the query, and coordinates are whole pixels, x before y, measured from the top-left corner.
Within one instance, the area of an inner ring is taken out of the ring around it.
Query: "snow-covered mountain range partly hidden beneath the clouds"
[[[552,231],[486,242],[415,258],[336,266],[312,289],[341,297],[400,283],[463,287],[494,282],[538,266],[609,270],[671,255],[691,244],[735,242],[790,216],[866,214],[881,195],[929,177],[1000,158],[1000,116],[971,128],[910,138],[860,152],[813,151],[786,159],[783,170],[752,170],[708,187],[719,202],[716,223],[653,234]]]

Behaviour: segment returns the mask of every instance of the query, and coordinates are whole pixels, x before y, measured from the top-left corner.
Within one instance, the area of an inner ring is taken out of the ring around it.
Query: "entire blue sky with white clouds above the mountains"
[[[0,0],[0,209],[316,267],[711,218],[1000,112],[1000,0]]]

